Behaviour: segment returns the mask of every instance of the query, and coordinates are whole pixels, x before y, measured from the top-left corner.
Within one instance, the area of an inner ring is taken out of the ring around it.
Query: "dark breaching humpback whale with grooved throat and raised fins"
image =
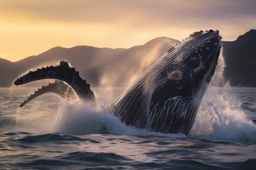
[[[110,113],[119,117],[126,125],[154,132],[181,132],[187,135],[215,71],[221,48],[220,39],[218,30],[198,31],[189,35],[189,38],[169,49],[137,77],[110,104]],[[92,106],[95,104],[90,84],[66,61],[61,61],[57,66],[29,71],[17,78],[14,84],[20,85],[39,79],[65,81],[72,86],[80,99],[91,102]],[[65,86],[63,88],[67,89]],[[50,84],[45,89],[47,90],[35,93],[31,98],[56,91]]]

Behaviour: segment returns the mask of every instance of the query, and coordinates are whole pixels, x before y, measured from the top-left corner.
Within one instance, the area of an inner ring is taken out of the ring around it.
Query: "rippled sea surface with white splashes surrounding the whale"
[[[1,170],[256,170],[256,88],[209,86],[189,133],[122,124],[108,104],[122,88],[93,88],[97,108],[37,88],[0,88]]]

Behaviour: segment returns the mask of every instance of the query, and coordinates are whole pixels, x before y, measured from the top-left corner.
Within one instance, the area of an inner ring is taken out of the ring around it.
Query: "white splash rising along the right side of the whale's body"
[[[221,51],[216,72],[204,94],[189,136],[256,142],[256,126],[245,117],[239,99],[232,93],[229,82],[225,82],[224,68],[225,62]]]

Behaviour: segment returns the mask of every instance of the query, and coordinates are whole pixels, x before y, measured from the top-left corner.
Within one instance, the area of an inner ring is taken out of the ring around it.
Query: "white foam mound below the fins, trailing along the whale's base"
[[[185,137],[183,134],[162,134],[145,129],[127,126],[118,117],[111,115],[107,108],[92,108],[83,102],[61,102],[55,118],[55,131],[63,134],[85,135],[105,134],[112,135],[155,135],[166,137]]]

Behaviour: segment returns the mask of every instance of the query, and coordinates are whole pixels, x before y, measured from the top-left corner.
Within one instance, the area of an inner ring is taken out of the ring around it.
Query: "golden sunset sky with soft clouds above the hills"
[[[218,29],[234,41],[256,29],[256,0],[0,0],[0,58],[56,46],[130,48]]]

